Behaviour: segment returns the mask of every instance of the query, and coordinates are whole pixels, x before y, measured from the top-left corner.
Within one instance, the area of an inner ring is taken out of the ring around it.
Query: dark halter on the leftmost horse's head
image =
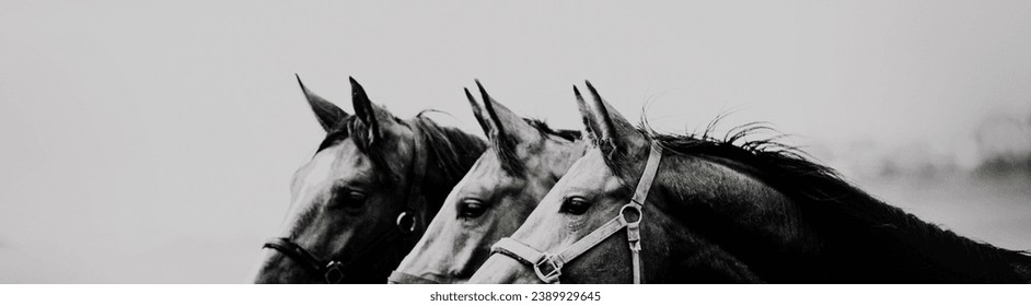
[[[405,202],[407,203],[407,209],[397,214],[395,220],[395,225],[391,229],[387,229],[386,233],[380,235],[371,245],[358,252],[357,256],[352,257],[347,263],[341,261],[329,259],[325,260],[309,252],[304,247],[301,247],[294,243],[289,237],[276,237],[269,238],[265,242],[265,245],[262,248],[275,249],[293,261],[301,263],[305,269],[311,272],[320,273],[326,280],[327,284],[336,284],[344,280],[346,273],[345,271],[348,268],[355,267],[359,259],[362,259],[368,254],[371,254],[373,250],[377,250],[384,246],[394,246],[394,244],[389,244],[397,239],[398,235],[407,235],[415,233],[418,225],[424,222],[419,222],[417,219],[417,212],[421,204],[426,203],[426,197],[421,195],[422,188],[422,178],[426,176],[426,149],[424,148],[424,137],[419,131],[418,125],[409,125],[413,132],[415,133],[415,156],[413,161],[413,168],[410,177],[413,178],[412,185],[408,189],[408,195],[406,196]],[[412,199],[412,197],[420,197],[420,199]],[[396,231],[394,231],[396,229]]]

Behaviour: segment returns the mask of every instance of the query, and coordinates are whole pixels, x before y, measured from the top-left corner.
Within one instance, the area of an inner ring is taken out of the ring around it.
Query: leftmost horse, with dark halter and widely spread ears
[[[255,282],[383,283],[486,143],[425,110],[396,118],[354,78],[355,115],[298,83],[326,137],[293,175]]]

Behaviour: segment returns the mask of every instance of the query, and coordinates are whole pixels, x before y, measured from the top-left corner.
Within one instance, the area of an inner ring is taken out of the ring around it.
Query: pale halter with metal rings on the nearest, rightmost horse
[[[644,217],[641,205],[648,198],[648,190],[651,189],[651,183],[659,170],[659,161],[662,160],[662,148],[652,144],[651,152],[648,154],[648,162],[645,164],[645,173],[641,174],[640,181],[637,183],[637,190],[630,202],[619,209],[619,215],[613,217],[591,234],[588,234],[580,240],[557,252],[538,251],[537,249],[520,243],[512,238],[501,238],[490,247],[491,254],[500,254],[517,261],[532,266],[537,278],[545,283],[559,283],[558,276],[561,275],[561,268],[569,261],[583,255],[591,248],[598,246],[610,236],[626,227],[626,239],[629,243],[630,258],[633,260],[634,283],[639,284],[641,279],[640,268],[640,221]],[[627,219],[627,212],[637,214],[633,221]]]

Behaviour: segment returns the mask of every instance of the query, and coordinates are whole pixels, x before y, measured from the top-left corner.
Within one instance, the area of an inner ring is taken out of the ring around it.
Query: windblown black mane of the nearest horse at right
[[[889,205],[847,183],[833,168],[810,161],[798,148],[778,142],[784,134],[744,141],[755,132],[776,132],[765,122],[738,126],[722,139],[714,138],[714,127],[721,118],[714,119],[702,134],[658,133],[647,120],[639,131],[667,152],[711,156],[717,158],[708,161],[752,168],[750,174],[797,203],[803,220],[826,238],[831,256],[858,257],[853,268],[857,271],[871,273],[874,269],[859,269],[897,264],[922,269],[932,273],[934,280],[947,282],[1013,281],[1031,275],[1027,251],[975,242]],[[889,254],[880,254],[885,250]]]

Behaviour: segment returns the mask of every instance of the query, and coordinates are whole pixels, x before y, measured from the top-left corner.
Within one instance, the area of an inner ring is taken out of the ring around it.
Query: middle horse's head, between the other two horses
[[[490,245],[511,235],[544,195],[583,155],[579,131],[553,130],[525,119],[487,94],[476,81],[483,107],[465,90],[489,148],[451,190],[391,283],[463,283],[490,255]],[[484,116],[484,113],[487,116]]]

